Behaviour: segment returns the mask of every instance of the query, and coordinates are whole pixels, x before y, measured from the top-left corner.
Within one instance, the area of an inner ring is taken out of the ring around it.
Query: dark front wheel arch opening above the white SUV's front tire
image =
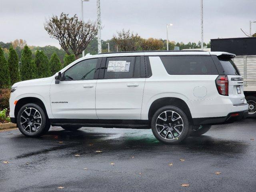
[[[34,103],[34,104],[37,104],[40,107],[42,107],[46,117],[48,118],[46,107],[44,105],[44,102],[42,102],[42,100],[40,100],[39,98],[36,98],[36,97],[24,97],[24,98],[19,99],[15,105],[15,108],[14,108],[15,122],[17,122],[17,116],[18,116],[18,112],[19,112],[20,108],[28,103]]]

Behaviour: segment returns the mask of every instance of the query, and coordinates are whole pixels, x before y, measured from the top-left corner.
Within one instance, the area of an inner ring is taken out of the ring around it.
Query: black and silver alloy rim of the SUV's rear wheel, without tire
[[[183,120],[175,111],[164,111],[156,119],[156,130],[164,139],[173,140],[178,138],[183,128]]]

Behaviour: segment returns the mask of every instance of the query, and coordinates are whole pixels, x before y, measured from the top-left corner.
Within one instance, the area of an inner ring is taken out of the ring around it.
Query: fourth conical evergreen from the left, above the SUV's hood
[[[49,77],[51,75],[49,61],[43,51],[36,51],[35,65],[38,70],[38,78]]]

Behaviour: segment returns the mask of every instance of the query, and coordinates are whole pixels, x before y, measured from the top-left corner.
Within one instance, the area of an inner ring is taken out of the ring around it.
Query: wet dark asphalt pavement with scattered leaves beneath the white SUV
[[[0,132],[0,160],[1,192],[255,192],[256,119],[179,145],[158,142],[151,130],[53,127],[41,138],[11,130]]]

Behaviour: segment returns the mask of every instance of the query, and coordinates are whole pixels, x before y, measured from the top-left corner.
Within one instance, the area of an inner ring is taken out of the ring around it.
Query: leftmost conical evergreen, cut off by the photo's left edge
[[[10,88],[10,73],[4,52],[0,48],[0,88]]]

